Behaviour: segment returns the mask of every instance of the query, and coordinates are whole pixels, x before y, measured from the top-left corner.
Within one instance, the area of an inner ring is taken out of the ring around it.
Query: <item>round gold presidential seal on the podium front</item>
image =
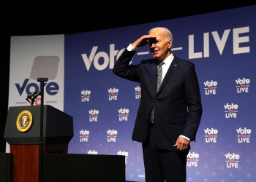
[[[16,121],[18,130],[20,132],[26,132],[27,130],[29,130],[32,124],[32,120],[33,120],[33,117],[31,112],[26,110],[20,112]]]

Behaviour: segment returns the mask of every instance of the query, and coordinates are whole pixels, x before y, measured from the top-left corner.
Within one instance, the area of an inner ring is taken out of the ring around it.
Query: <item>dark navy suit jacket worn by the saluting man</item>
[[[114,74],[140,82],[140,106],[132,140],[146,141],[148,122],[154,107],[154,141],[159,149],[176,151],[173,145],[179,135],[195,141],[202,115],[195,65],[174,56],[157,92],[157,60],[142,60],[138,65],[129,65],[133,55],[135,51],[124,50],[113,68]]]

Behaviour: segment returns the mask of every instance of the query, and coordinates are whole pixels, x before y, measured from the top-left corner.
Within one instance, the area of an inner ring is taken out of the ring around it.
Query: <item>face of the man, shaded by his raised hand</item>
[[[170,55],[169,49],[172,46],[172,40],[166,41],[165,30],[152,31],[149,35],[156,36],[155,39],[149,39],[152,55],[159,61],[165,60]]]

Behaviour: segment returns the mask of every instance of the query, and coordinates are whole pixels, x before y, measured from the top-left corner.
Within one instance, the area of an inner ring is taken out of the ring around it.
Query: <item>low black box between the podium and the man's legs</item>
[[[124,156],[43,154],[43,182],[124,182]]]

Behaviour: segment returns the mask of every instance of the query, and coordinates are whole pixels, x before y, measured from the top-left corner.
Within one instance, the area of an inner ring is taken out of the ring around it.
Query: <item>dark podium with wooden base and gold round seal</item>
[[[73,118],[45,105],[43,116],[43,152],[67,154],[72,139]],[[4,138],[12,154],[12,181],[38,181],[40,106],[10,107]]]

